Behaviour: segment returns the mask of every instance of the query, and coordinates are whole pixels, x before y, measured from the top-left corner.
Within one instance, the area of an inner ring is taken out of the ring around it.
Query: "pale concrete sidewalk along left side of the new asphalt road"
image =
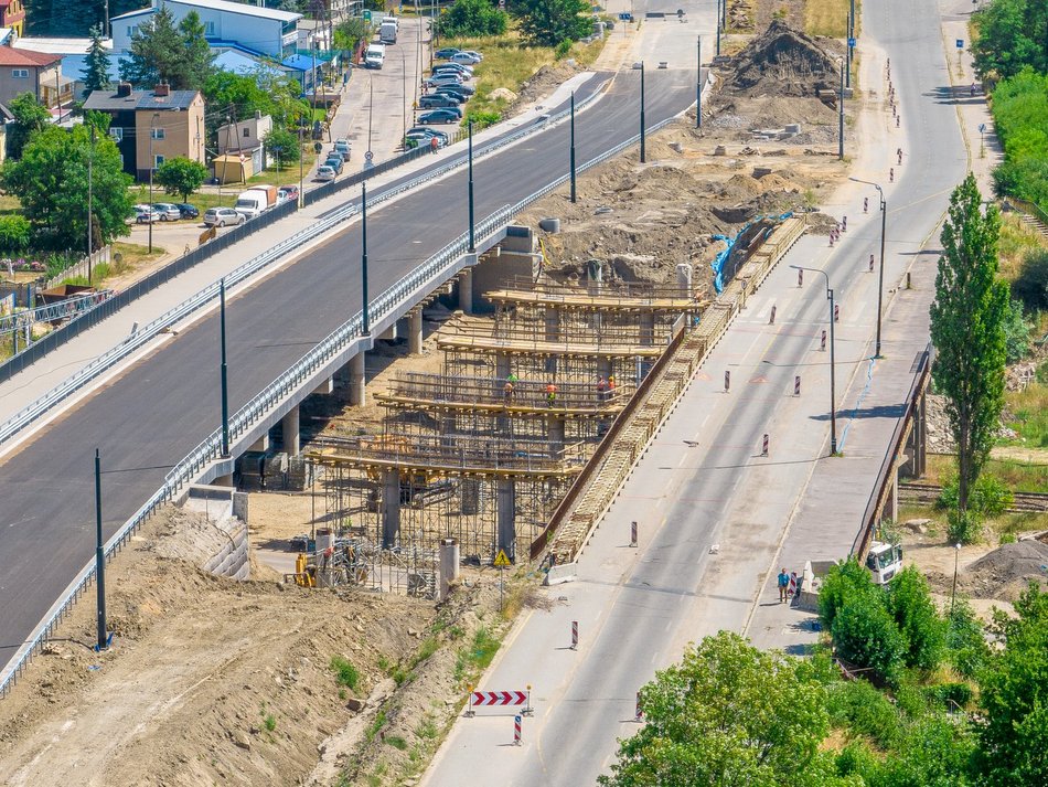
[[[483,131],[474,134],[474,150],[478,146],[482,146],[484,142],[512,131],[520,126],[534,124],[535,120],[541,115],[543,115],[544,111],[546,111],[541,107],[555,106],[566,100],[573,89],[585,83],[591,76],[591,72],[578,74],[568,82],[560,85],[550,96],[547,96],[542,102],[542,104],[533,105],[531,108],[525,109],[523,113],[506,123],[499,124],[498,126],[493,126],[484,129]],[[464,152],[464,142],[461,142],[449,148],[441,149],[436,157],[424,156],[403,167],[396,168],[391,172],[378,176],[374,180],[368,181],[368,190],[372,194],[377,194],[384,187],[387,187],[395,181],[399,181],[405,177],[421,172],[432,167],[435,163],[442,163],[448,158],[461,156]],[[325,200],[321,200],[320,202],[306,208],[304,210],[298,211],[282,221],[258,231],[254,235],[246,237],[243,242],[229,248],[224,254],[216,255],[215,257],[207,259],[206,262],[185,272],[181,276],[172,279],[168,284],[152,290],[148,295],[130,304],[126,309],[122,309],[109,319],[104,320],[94,328],[72,339],[67,343],[57,348],[54,352],[49,353],[38,363],[23,370],[21,373],[17,374],[10,380],[0,383],[0,423],[7,421],[25,406],[32,404],[39,397],[46,394],[50,390],[57,386],[64,380],[90,363],[90,361],[93,361],[98,355],[104,354],[109,349],[122,342],[131,332],[131,329],[136,323],[139,327],[147,325],[160,315],[192,297],[203,288],[213,284],[214,281],[217,281],[231,270],[239,267],[244,263],[272,247],[279,241],[302,230],[304,226],[314,223],[321,215],[357,198],[359,192],[354,190],[338,192]],[[376,212],[381,212],[387,204],[389,203],[382,203],[374,210]],[[332,234],[342,232],[345,226],[347,226],[347,223],[340,225],[338,230],[334,230],[331,233],[325,233],[324,235],[314,238],[310,243],[300,246],[295,255],[289,255],[279,263],[266,268],[256,277],[243,283],[239,287],[233,289],[229,293],[231,299],[235,298],[238,294],[253,286],[259,278],[272,275],[277,270],[289,266],[291,263],[299,259],[302,254],[322,244]],[[200,319],[204,313],[206,313],[206,311],[200,311],[192,319]],[[124,369],[130,363],[133,363],[138,358],[154,351],[162,342],[169,341],[170,338],[170,334],[158,337],[156,340],[150,342],[138,355],[125,360],[117,370],[110,371],[106,376],[111,376],[118,373],[119,369]],[[57,415],[62,408],[85,396],[98,384],[100,384],[100,382],[101,379],[83,389],[66,404],[52,411],[49,417],[55,417],[55,415]]]

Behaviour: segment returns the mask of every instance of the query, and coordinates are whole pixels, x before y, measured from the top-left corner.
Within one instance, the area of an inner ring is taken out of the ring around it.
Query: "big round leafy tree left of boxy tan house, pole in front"
[[[72,129],[49,126],[25,146],[19,161],[6,162],[3,188],[19,198],[36,232],[36,242],[54,248],[82,248],[87,230],[87,171],[92,162],[92,215],[103,243],[127,235],[131,214],[120,151],[90,123]]]

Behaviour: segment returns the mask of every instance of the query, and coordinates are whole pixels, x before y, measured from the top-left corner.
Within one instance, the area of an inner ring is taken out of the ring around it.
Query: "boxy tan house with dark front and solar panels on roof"
[[[177,156],[204,163],[204,98],[199,91],[172,91],[167,85],[135,91],[121,82],[116,91],[92,93],[84,108],[113,118],[109,135],[120,150],[124,170],[140,181]]]

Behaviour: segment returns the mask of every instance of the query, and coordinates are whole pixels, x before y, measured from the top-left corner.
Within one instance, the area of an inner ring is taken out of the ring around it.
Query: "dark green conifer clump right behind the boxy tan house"
[[[199,91],[214,71],[214,57],[200,14],[190,11],[175,25],[174,15],[161,3],[131,34],[120,78],[138,87],[168,83],[174,91]]]

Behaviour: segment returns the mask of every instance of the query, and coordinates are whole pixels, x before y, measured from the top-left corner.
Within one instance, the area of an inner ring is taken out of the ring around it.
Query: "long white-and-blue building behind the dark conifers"
[[[204,24],[204,36],[212,45],[239,44],[244,49],[284,60],[295,51],[296,28],[300,13],[278,11],[231,0],[152,0],[150,8],[114,17],[114,52],[120,54],[131,46],[131,36],[156,12],[160,2],[171,11],[175,22],[196,11]]]

